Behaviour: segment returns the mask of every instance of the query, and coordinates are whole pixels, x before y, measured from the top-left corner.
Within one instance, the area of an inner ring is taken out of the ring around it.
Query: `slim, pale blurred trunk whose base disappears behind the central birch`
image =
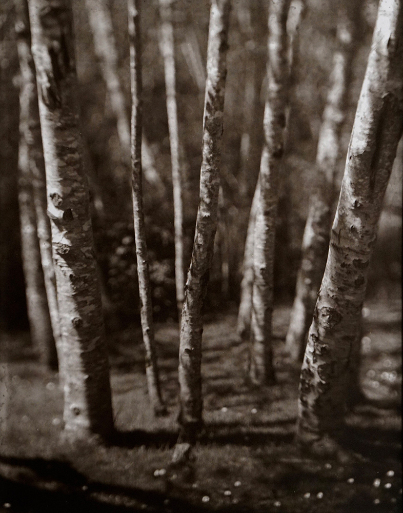
[[[167,93],[167,113],[169,142],[171,146],[171,168],[173,186],[173,210],[175,229],[175,285],[176,304],[179,314],[182,313],[184,302],[184,248],[183,248],[183,202],[182,175],[179,160],[179,128],[176,107],[175,85],[175,46],[172,25],[172,0],[159,0],[161,17],[160,49],[164,57],[165,88]]]

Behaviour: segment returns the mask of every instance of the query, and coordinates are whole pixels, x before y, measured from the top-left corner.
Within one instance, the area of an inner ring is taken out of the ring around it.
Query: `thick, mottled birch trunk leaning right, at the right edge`
[[[299,387],[298,439],[314,450],[342,425],[368,266],[403,127],[403,9],[381,0],[325,274]],[[330,445],[329,451],[332,450]]]

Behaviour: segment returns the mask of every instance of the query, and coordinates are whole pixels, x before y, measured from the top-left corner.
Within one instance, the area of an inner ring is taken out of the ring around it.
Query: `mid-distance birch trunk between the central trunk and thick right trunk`
[[[290,0],[269,4],[268,93],[264,114],[265,145],[261,155],[253,246],[252,345],[249,377],[254,384],[274,382],[271,347],[274,233],[279,171],[284,152],[287,106],[287,14]]]

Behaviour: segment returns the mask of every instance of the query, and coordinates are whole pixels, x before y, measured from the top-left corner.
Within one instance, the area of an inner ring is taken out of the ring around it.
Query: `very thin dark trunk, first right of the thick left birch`
[[[131,161],[134,236],[137,255],[138,289],[142,308],[140,311],[143,341],[146,347],[146,375],[148,393],[156,415],[166,411],[158,378],[152,317],[150,272],[146,244],[146,229],[142,191],[142,44],[140,34],[140,0],[128,0],[130,38],[130,78],[132,93]]]

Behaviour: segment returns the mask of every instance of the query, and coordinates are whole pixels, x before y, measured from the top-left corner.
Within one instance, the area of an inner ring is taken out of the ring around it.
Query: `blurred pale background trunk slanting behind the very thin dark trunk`
[[[130,163],[130,123],[126,111],[125,96],[122,91],[118,74],[117,50],[113,35],[112,18],[106,0],[85,0],[91,31],[94,37],[94,48],[99,58],[101,71],[113,115],[116,119],[117,135],[123,152],[123,161]],[[162,186],[155,170],[153,156],[145,137],[142,141],[143,171],[146,180]]]

